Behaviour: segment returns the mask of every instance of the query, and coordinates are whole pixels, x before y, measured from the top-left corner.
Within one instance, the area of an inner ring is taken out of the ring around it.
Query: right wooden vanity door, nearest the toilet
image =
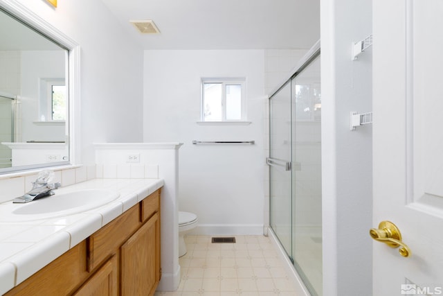
[[[121,247],[123,296],[154,295],[160,280],[160,219],[154,214]]]

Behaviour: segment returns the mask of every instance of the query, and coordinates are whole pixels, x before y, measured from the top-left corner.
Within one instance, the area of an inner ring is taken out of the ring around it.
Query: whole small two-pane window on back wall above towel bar
[[[201,80],[201,121],[245,121],[244,78]]]

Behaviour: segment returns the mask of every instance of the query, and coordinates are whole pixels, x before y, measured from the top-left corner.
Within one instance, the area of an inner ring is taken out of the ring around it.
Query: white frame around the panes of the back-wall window
[[[205,98],[204,86],[206,84],[221,84],[221,120],[205,120]],[[241,85],[240,119],[226,119],[226,85]],[[235,123],[246,122],[246,78],[201,78],[201,101],[200,101],[200,120],[201,123]]]

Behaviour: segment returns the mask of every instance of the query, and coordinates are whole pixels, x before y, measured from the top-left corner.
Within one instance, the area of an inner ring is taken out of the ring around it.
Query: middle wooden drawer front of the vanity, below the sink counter
[[[87,238],[88,271],[96,268],[140,227],[138,204]]]

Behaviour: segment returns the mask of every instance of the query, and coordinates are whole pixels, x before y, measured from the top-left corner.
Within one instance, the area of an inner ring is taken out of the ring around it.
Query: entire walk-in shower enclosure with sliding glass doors
[[[311,295],[322,291],[320,46],[269,98],[269,224]]]

